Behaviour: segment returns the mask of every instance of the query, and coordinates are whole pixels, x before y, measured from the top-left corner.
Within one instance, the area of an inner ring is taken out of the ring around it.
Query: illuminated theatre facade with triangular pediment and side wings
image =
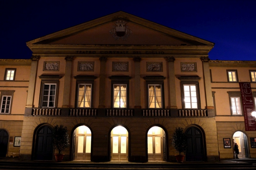
[[[256,158],[239,86],[250,85],[255,110],[255,61],[210,60],[214,43],[124,12],[27,46],[30,60],[0,59],[0,156],[53,160],[62,124],[65,160],[172,162],[177,127],[187,162],[234,158],[235,142]]]

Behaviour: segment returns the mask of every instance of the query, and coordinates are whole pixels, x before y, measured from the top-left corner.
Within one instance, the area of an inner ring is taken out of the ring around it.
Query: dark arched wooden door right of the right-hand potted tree
[[[186,131],[187,151],[186,161],[203,161],[203,138],[201,131],[196,127],[191,127]]]

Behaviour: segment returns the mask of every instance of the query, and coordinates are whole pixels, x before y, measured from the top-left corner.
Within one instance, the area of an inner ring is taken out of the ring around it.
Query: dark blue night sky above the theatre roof
[[[26,42],[117,11],[215,43],[212,60],[256,60],[256,1],[0,0],[0,58],[30,58]]]

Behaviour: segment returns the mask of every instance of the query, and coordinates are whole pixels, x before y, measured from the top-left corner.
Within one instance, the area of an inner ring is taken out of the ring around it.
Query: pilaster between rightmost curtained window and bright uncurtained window
[[[177,108],[176,102],[176,85],[175,85],[175,70],[174,70],[174,57],[168,57],[168,70],[169,70],[169,88],[170,88],[170,108]]]

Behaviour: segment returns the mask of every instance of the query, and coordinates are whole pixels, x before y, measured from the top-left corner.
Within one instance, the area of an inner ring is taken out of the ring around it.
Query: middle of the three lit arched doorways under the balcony
[[[111,131],[111,160],[128,161],[128,131],[123,126]]]

